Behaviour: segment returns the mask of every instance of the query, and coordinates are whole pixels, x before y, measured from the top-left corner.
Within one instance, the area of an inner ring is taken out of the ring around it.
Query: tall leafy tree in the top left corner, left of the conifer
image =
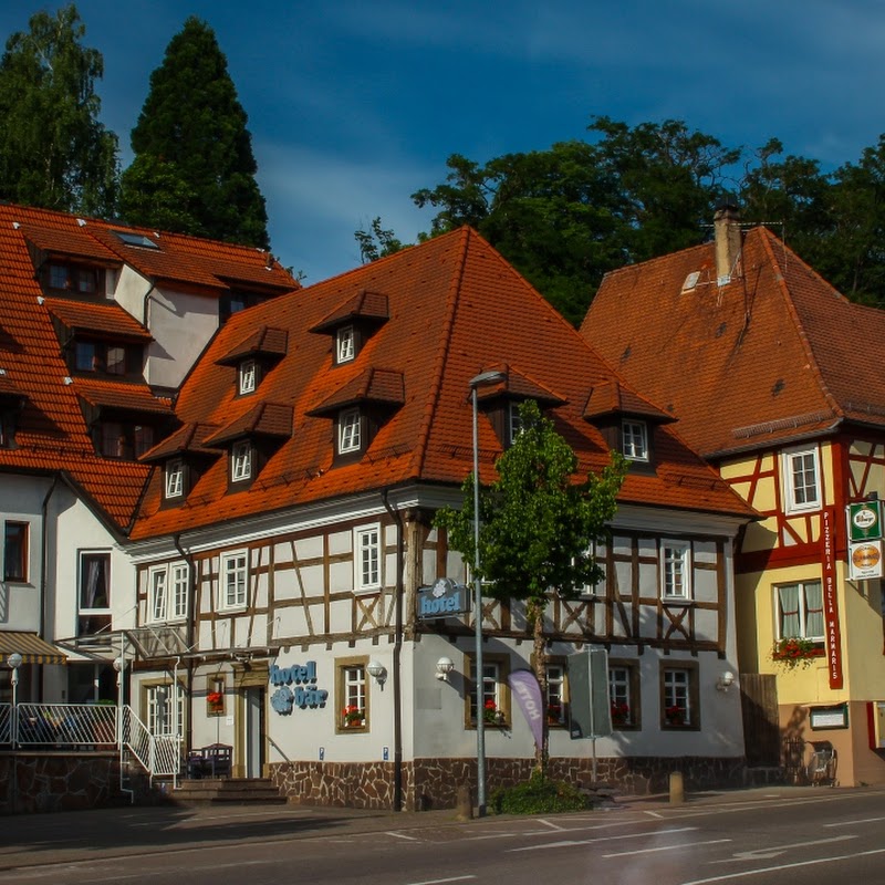
[[[98,122],[102,54],[81,44],[72,3],[38,12],[0,59],[0,198],[110,217],[117,198],[117,137]]]

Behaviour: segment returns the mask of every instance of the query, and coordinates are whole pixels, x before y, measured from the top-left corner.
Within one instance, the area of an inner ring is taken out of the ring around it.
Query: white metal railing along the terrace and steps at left
[[[119,735],[117,735],[119,722]],[[0,748],[112,749],[124,748],[154,777],[178,774],[181,739],[152,735],[128,705],[119,710],[105,704],[0,704]]]

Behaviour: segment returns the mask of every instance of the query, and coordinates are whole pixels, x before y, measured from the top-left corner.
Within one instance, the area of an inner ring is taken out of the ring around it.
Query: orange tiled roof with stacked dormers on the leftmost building
[[[159,249],[124,242],[119,231],[132,235],[133,242],[153,238]],[[171,406],[146,384],[70,376],[53,317],[77,334],[138,343],[147,343],[150,335],[101,296],[95,303],[44,298],[35,271],[49,259],[105,268],[128,264],[154,282],[176,280],[183,288],[219,294],[247,283],[252,290],[289,291],[293,281],[256,249],[0,205],[0,406],[21,406],[15,413],[15,448],[0,448],[0,472],[61,472],[123,532],[150,468],[97,456],[81,404],[93,413],[111,408],[169,418]]]

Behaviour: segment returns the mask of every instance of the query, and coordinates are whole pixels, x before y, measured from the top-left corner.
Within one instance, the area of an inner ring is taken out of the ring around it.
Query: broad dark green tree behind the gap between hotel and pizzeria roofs
[[[477,228],[574,324],[607,271],[704,239],[740,156],[679,121],[631,128],[596,117],[590,128],[595,143],[485,165],[455,154],[444,184],[412,195],[438,210],[431,236]]]

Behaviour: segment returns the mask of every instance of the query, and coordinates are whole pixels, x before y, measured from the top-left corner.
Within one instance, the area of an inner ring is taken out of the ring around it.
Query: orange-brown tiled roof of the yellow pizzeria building
[[[747,232],[723,287],[714,250],[607,274],[581,334],[708,457],[845,420],[885,427],[885,312],[847,301],[766,228]]]

